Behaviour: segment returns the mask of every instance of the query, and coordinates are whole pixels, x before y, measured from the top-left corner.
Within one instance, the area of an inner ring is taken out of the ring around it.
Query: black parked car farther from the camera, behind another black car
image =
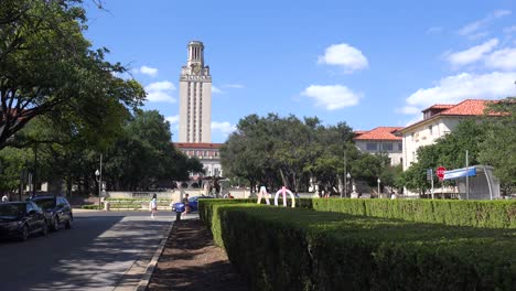
[[[74,214],[68,201],[62,196],[35,196],[31,198],[32,202],[37,204],[46,215],[52,230],[60,229],[63,225],[65,228],[72,227]]]

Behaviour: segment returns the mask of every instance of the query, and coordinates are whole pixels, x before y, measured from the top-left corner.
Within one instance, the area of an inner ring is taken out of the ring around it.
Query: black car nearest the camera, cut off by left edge
[[[46,216],[31,201],[0,203],[0,237],[26,240],[30,235],[49,231]]]

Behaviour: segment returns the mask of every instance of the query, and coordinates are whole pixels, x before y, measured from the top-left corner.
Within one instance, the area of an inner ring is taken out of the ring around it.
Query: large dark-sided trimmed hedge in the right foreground
[[[215,241],[254,290],[516,290],[513,229],[252,204],[211,208]]]

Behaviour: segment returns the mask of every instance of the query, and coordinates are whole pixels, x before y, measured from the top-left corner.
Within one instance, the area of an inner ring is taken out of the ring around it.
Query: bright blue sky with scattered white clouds
[[[131,68],[178,141],[186,45],[204,42],[212,142],[250,114],[355,130],[406,126],[433,104],[516,95],[516,1],[89,3],[86,36]]]

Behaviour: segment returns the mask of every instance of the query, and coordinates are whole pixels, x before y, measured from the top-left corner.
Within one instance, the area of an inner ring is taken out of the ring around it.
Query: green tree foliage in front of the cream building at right
[[[508,97],[486,108],[490,117],[465,119],[434,144],[418,149],[418,162],[405,171],[399,181],[409,190],[424,192],[429,188],[426,170],[438,166],[458,169],[469,164],[494,166],[505,194],[516,188],[516,98]],[[498,114],[493,116],[493,114]],[[434,177],[436,180],[436,177]]]

